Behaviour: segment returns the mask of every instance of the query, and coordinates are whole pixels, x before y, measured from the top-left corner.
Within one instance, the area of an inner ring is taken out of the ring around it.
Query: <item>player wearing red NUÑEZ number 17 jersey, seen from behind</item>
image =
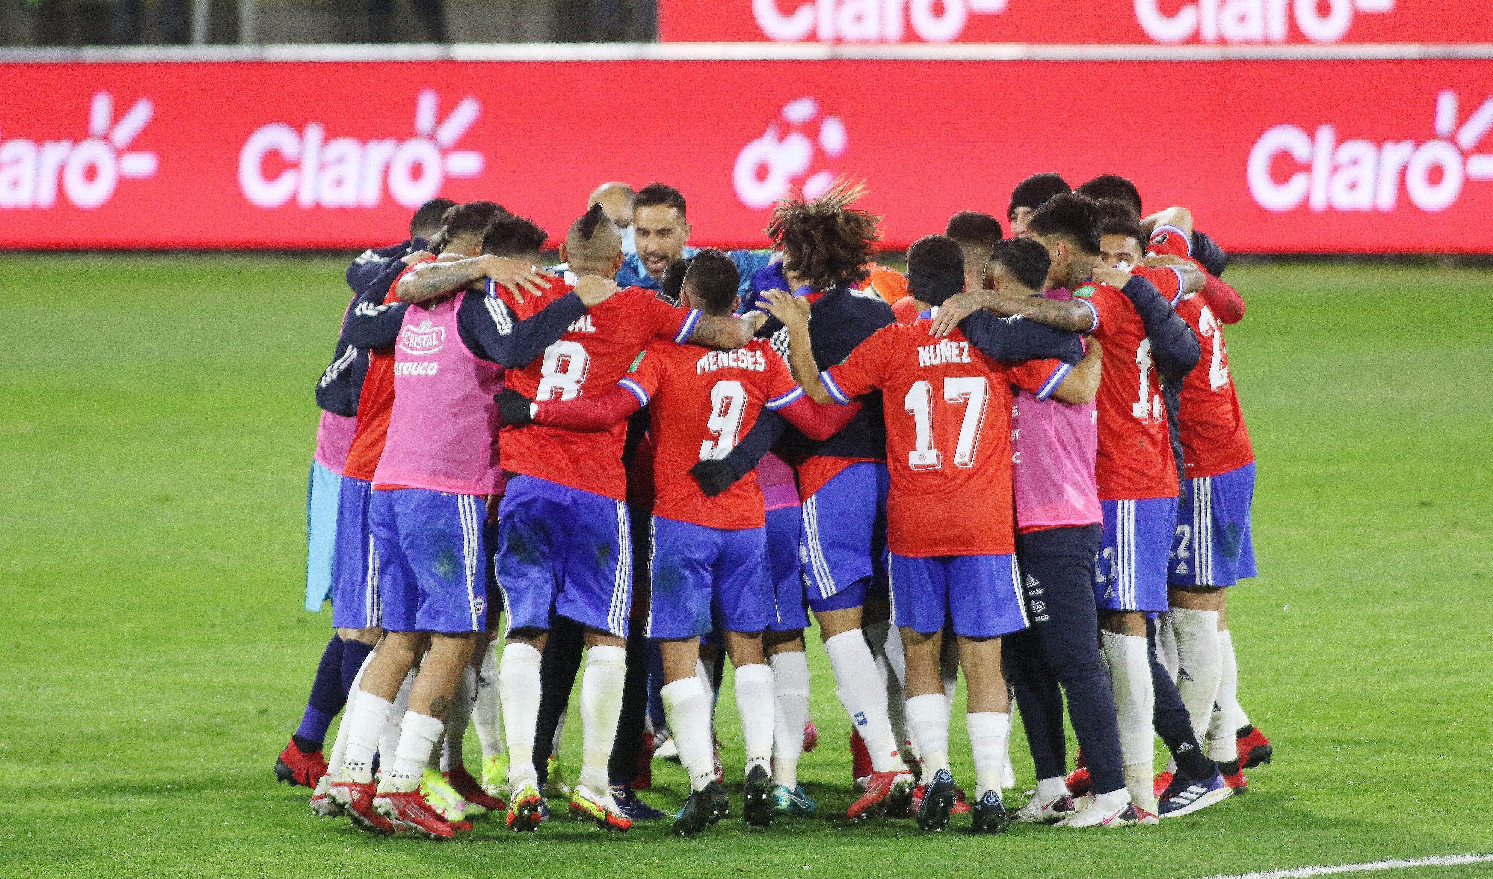
[[[914,243],[908,269],[912,295],[921,301],[936,306],[964,288],[963,255],[945,236]],[[879,390],[888,401],[888,585],[891,621],[906,654],[908,721],[927,772],[918,825],[947,827],[956,795],[939,675],[942,631],[951,622],[969,682],[973,825],[1003,833],[1000,778],[1009,718],[1000,636],[1026,628],[1027,618],[1014,555],[1011,376],[972,345],[999,321],[972,315],[947,339],[932,336],[932,313],[911,325],[893,324],[820,373],[808,303],[781,291],[769,297],[790,331],[794,378],[812,398],[847,404]],[[1076,336],[1054,336],[1060,339],[1054,352],[1066,345],[1069,363],[1076,361]],[[988,503],[970,506],[979,497]]]

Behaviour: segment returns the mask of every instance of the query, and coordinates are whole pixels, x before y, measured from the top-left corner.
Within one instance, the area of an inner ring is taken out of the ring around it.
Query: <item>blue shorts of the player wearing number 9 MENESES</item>
[[[723,531],[652,518],[648,637],[761,631],[778,619],[767,579],[767,530]]]

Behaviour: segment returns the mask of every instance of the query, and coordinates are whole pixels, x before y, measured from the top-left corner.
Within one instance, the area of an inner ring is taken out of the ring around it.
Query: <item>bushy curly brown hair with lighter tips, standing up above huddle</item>
[[[802,191],[778,201],[766,231],[773,248],[782,251],[784,270],[821,293],[864,281],[881,239],[881,218],[851,206],[864,194],[864,184],[841,179],[812,201]]]

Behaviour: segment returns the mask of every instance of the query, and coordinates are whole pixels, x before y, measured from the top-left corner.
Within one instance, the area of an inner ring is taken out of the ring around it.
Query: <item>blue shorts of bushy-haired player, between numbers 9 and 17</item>
[[[803,501],[799,560],[815,612],[885,594],[888,482],[885,464],[857,461]]]

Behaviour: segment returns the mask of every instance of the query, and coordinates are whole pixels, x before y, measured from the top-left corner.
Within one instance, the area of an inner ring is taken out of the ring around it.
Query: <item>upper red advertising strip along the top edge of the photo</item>
[[[667,42],[1478,43],[1469,0],[658,0]]]

